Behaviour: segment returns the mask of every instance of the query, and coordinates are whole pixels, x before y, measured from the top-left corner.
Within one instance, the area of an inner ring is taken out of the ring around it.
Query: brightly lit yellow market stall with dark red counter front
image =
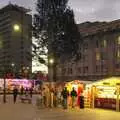
[[[120,106],[120,77],[102,79],[86,85],[86,96],[91,107],[116,109]]]

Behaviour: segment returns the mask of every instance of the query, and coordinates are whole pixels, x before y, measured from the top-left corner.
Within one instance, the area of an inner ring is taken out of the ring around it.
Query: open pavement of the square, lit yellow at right
[[[2,97],[0,97],[1,99]],[[41,108],[35,106],[35,96],[32,104],[13,103],[7,96],[6,104],[0,103],[0,120],[120,120],[120,112],[103,109],[68,109]],[[0,100],[1,101],[1,100]]]

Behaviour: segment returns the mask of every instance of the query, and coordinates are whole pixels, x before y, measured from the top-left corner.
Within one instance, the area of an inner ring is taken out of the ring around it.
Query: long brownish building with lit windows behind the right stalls
[[[120,75],[120,20],[78,25],[80,59],[57,67],[57,80],[98,80]],[[81,42],[80,42],[81,43]]]

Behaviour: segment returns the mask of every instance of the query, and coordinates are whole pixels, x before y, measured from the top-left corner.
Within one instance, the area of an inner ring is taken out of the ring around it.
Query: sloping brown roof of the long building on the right
[[[78,29],[82,36],[118,30],[120,29],[120,19],[111,22],[85,22],[78,24]]]

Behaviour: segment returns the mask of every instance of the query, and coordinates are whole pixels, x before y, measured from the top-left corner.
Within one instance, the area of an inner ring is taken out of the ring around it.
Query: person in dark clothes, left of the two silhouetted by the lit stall
[[[66,87],[62,90],[61,95],[63,97],[63,108],[67,109],[67,97],[69,95],[69,92]]]

